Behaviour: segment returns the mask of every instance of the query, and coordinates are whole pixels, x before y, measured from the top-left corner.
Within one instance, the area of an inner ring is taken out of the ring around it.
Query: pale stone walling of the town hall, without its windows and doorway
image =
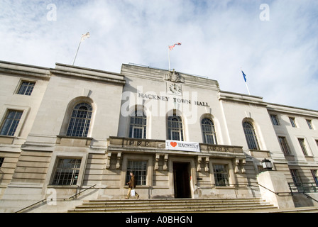
[[[123,199],[128,159],[148,162],[148,185],[138,188],[143,199],[174,196],[173,162],[190,163],[192,198],[260,196],[259,190],[250,187],[211,187],[216,163],[228,165],[231,184],[255,184],[264,158],[273,162],[274,170],[283,172],[287,182],[292,182],[290,168],[299,170],[304,181],[312,180],[310,170],[318,170],[318,111],[267,104],[258,96],[224,92],[212,79],[183,73],[179,73],[179,79],[171,79],[167,74],[166,70],[133,65],[123,65],[119,74],[62,64],[48,69],[0,62],[1,123],[7,109],[24,111],[16,134],[0,136],[0,157],[5,157],[0,211],[15,211],[18,206],[45,198],[52,190],[57,198],[68,198],[94,184],[90,199]],[[23,79],[36,82],[31,96],[16,94]],[[171,84],[180,86],[180,94],[172,94]],[[72,108],[82,101],[93,107],[88,138],[68,138],[65,135]],[[167,116],[176,109],[182,116],[185,141],[202,143],[201,121],[209,117],[214,121],[218,145],[232,146],[233,150],[172,152],[164,160],[164,146],[147,149],[113,144],[110,149],[110,137],[128,138],[128,115],[136,106],[145,107],[147,139],[151,143],[168,139]],[[278,115],[280,126],[273,126],[270,114]],[[290,126],[288,116],[296,118],[297,128]],[[309,130],[306,119],[312,120],[313,130]],[[261,150],[248,149],[244,120],[253,123]],[[287,137],[292,155],[283,155],[280,135]],[[302,154],[297,138],[305,138],[308,157]],[[77,185],[50,185],[59,157],[82,158]]]

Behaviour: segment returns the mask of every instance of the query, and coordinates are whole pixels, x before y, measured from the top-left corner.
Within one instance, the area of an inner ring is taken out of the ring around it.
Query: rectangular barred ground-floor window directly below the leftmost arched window
[[[59,158],[55,168],[53,185],[76,185],[79,175],[80,159]]]

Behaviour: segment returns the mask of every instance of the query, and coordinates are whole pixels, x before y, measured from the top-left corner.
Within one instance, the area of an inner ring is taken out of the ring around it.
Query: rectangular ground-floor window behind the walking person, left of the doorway
[[[147,184],[147,161],[128,160],[126,182],[131,179],[130,172],[133,172],[133,175],[135,175],[136,185]]]

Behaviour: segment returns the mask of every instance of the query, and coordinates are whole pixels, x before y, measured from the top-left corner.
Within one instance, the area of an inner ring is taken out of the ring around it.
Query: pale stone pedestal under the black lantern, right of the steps
[[[265,201],[270,202],[279,209],[295,207],[294,201],[292,201],[292,196],[288,194],[290,189],[287,184],[287,180],[283,172],[278,171],[266,171],[261,172],[257,177],[258,184],[263,187],[270,189],[265,189],[260,186],[262,198]],[[279,194],[275,193],[280,192]],[[282,193],[285,192],[285,193]]]

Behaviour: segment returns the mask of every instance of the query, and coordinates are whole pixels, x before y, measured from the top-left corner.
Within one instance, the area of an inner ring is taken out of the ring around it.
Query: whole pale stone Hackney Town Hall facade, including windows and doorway
[[[0,62],[0,80],[0,211],[48,197],[43,211],[66,211],[84,189],[124,199],[130,171],[141,199],[261,197],[264,159],[286,182],[318,185],[318,111],[140,65]]]

